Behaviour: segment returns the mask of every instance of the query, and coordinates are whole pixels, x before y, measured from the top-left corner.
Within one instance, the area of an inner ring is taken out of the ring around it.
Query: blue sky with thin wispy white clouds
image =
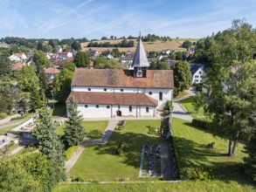
[[[0,38],[101,38],[149,33],[204,38],[235,18],[256,27],[255,0],[0,0]]]

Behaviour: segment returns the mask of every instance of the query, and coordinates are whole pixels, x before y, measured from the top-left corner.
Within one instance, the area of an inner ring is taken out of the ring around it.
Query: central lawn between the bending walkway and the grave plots
[[[80,176],[84,181],[138,180],[142,145],[148,141],[162,142],[161,138],[147,134],[146,126],[159,127],[160,120],[127,120],[121,131],[114,131],[107,145],[86,147],[69,176]],[[121,142],[126,151],[111,154]]]

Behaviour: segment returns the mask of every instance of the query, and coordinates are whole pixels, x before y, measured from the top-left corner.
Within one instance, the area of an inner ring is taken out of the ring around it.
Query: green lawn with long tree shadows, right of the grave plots
[[[172,120],[173,140],[176,145],[176,154],[181,168],[197,167],[201,165],[217,166],[218,164],[241,162],[246,156],[243,153],[243,144],[238,145],[233,157],[227,156],[228,141],[213,136],[199,128],[193,127],[186,120],[173,118]],[[206,147],[214,141],[215,147]]]

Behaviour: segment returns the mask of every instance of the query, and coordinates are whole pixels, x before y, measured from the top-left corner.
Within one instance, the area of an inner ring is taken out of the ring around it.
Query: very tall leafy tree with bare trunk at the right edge
[[[250,137],[249,121],[256,93],[255,31],[235,20],[232,28],[218,33],[211,42],[214,55],[205,85],[210,88],[205,111],[213,129],[229,140],[228,155],[235,154],[238,141]]]

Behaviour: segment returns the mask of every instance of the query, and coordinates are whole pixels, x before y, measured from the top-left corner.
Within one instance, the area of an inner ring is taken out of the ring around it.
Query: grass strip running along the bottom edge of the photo
[[[208,180],[208,181],[197,181],[197,182],[148,182],[148,183],[105,183],[105,184],[69,184],[59,183],[53,192],[78,192],[78,191],[92,191],[92,192],[129,192],[129,191],[140,191],[140,192],[167,192],[167,191],[178,191],[178,192],[204,192],[204,191],[256,191],[255,185],[247,182],[245,176],[233,176],[229,178],[222,178],[221,180]]]

